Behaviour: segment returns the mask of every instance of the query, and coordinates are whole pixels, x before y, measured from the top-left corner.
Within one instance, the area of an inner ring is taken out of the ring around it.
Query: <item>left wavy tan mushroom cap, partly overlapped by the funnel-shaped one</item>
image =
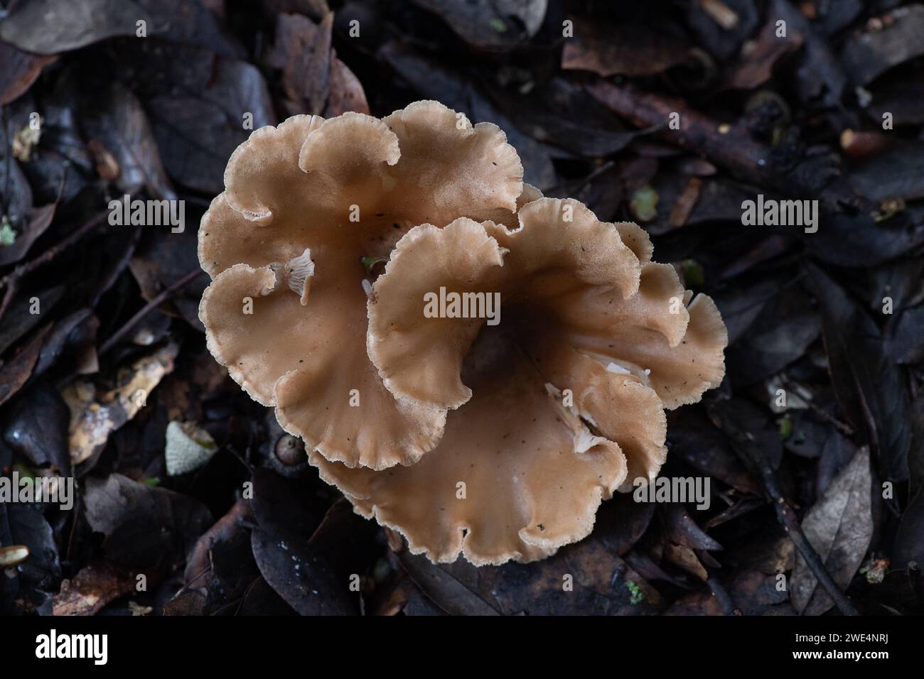
[[[500,128],[437,102],[254,131],[201,222],[210,351],[327,459],[414,463],[439,441],[444,407],[395,398],[371,365],[363,258],[387,258],[422,222],[512,224],[535,191],[522,176]]]

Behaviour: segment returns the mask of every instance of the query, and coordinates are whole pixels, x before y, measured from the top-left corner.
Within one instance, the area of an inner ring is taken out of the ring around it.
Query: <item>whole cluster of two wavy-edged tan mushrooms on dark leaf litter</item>
[[[723,378],[718,309],[644,230],[522,176],[500,128],[440,103],[296,116],[232,154],[201,222],[213,356],[433,562],[586,537],[657,475],[664,409]]]

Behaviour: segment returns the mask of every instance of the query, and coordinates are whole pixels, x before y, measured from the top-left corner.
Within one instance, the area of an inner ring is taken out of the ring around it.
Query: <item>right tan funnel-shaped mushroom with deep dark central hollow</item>
[[[516,227],[415,226],[372,286],[369,357],[397,402],[453,410],[439,444],[383,471],[309,452],[359,514],[433,562],[528,562],[586,537],[602,500],[655,478],[664,408],[723,379],[718,309],[651,261],[638,225],[577,200],[524,203]],[[429,318],[435,291],[496,294],[503,320],[448,304]]]

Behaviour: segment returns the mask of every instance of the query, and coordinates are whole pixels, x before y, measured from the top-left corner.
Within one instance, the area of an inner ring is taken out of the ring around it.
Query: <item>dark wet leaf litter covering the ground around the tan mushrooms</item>
[[[30,549],[0,577],[3,612],[921,611],[924,6],[4,5],[0,468],[73,475],[79,498],[0,503],[2,545]],[[290,437],[205,349],[199,218],[245,114],[256,128],[423,98],[503,127],[527,181],[643,224],[656,260],[715,298],[727,376],[669,414],[663,469],[709,476],[708,511],[620,496],[546,561],[434,566],[353,515],[303,453],[280,460]],[[185,200],[185,232],[109,225],[125,194]],[[758,194],[819,200],[819,231],[742,225]],[[180,476],[164,465],[174,420],[216,450]]]

